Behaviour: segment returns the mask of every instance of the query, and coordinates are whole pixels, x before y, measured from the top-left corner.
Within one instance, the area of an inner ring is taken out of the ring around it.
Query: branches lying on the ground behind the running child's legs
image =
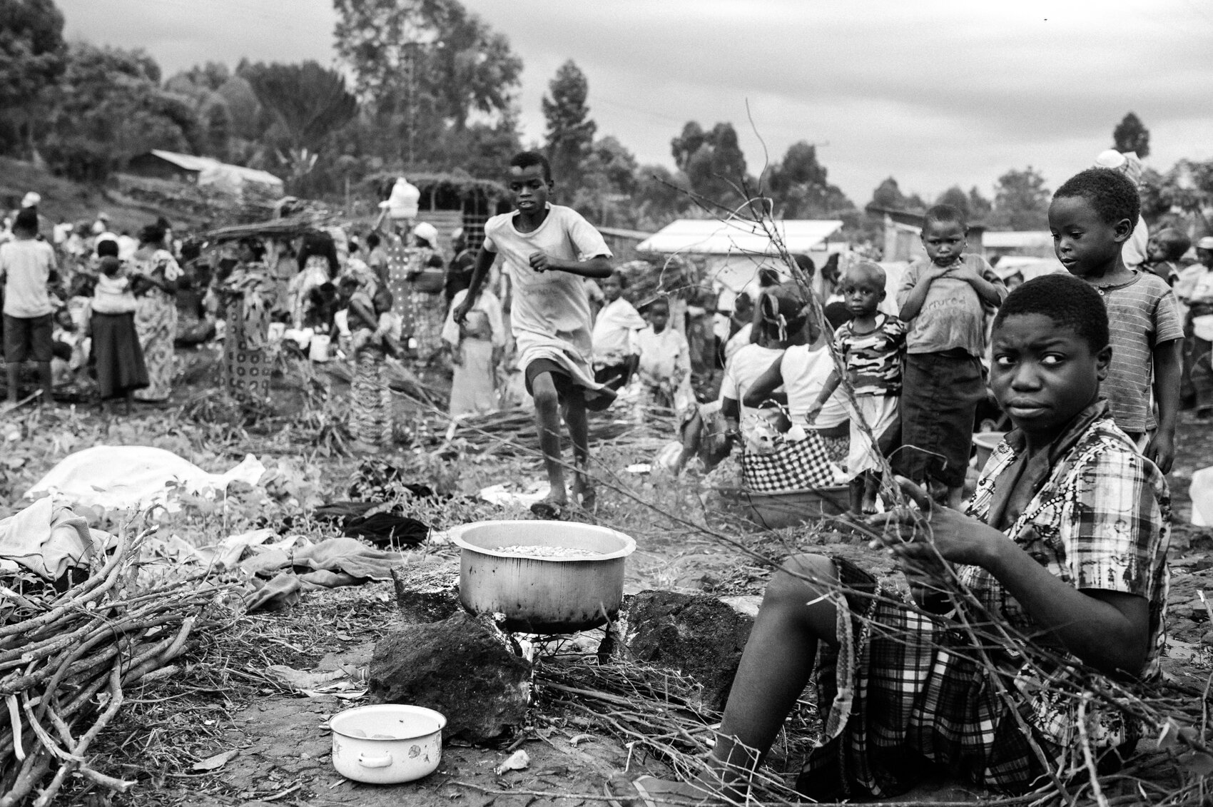
[[[634,419],[590,419],[591,443],[630,444],[638,448],[660,448],[678,433],[678,422],[670,410],[650,409],[643,421]],[[540,456],[539,430],[535,413],[528,409],[503,409],[484,415],[468,415],[454,421],[448,432],[483,454],[501,456]]]

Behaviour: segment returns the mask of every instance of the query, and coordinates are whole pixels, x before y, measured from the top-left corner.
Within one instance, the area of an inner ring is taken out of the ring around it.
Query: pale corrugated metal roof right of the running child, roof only
[[[819,249],[842,227],[841,221],[776,220],[768,222],[790,252]],[[775,248],[767,231],[741,218],[679,218],[651,238],[640,241],[640,252],[680,252],[691,255],[729,255],[745,252],[771,255]]]

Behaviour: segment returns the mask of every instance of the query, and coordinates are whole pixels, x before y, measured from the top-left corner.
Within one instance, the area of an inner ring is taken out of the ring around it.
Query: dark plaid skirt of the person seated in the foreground
[[[833,563],[838,647],[820,646],[814,675],[824,731],[797,779],[799,792],[819,801],[894,796],[933,765],[976,785],[1023,792],[1046,774],[1031,743],[1061,779],[1082,769],[1077,744],[1055,741],[1058,726],[1048,722],[1067,714],[1072,731],[1061,687],[1025,677],[1021,659],[996,647],[986,647],[983,661],[949,618],[911,610],[852,562]],[[1137,744],[1135,728],[1118,712],[1105,710],[1088,723],[1100,752],[1131,752]],[[1106,755],[1104,765],[1117,758]]]

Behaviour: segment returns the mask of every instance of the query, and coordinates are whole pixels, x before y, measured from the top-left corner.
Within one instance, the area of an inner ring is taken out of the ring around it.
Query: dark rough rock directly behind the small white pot
[[[484,618],[462,610],[440,623],[388,631],[371,657],[376,703],[411,704],[446,716],[445,737],[480,743],[522,726],[531,665]]]

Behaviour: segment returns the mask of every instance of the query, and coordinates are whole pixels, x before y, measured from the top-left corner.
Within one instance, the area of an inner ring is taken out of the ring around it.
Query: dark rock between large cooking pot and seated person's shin
[[[724,709],[750,638],[753,603],[707,595],[642,591],[627,609],[626,643],[637,661],[677,670],[704,687],[704,706]]]

